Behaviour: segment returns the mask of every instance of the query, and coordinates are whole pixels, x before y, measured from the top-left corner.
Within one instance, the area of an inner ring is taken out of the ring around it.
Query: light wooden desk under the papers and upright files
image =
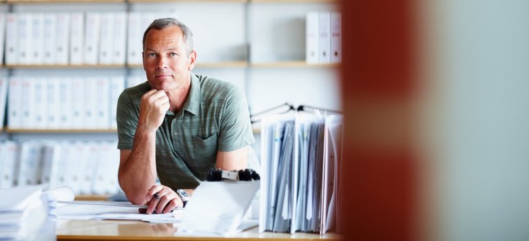
[[[258,228],[218,237],[191,237],[174,234],[172,224],[151,224],[127,220],[57,220],[57,240],[340,240],[340,235],[328,233],[259,233]]]

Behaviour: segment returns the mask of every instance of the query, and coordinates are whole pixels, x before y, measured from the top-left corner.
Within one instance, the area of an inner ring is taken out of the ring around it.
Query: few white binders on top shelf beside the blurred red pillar
[[[308,12],[305,28],[307,63],[342,62],[340,12]]]

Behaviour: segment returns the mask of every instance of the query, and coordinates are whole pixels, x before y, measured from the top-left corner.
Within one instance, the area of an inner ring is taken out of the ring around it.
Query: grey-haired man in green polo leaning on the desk
[[[156,19],[143,34],[147,82],[118,99],[119,184],[149,214],[184,207],[211,167],[245,169],[255,141],[244,94],[191,73],[195,63],[189,28]]]

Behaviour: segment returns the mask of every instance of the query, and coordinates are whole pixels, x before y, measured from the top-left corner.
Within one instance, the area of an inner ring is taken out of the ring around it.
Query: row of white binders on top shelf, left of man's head
[[[174,15],[0,12],[0,56],[5,41],[7,65],[141,65],[143,31],[154,19]]]

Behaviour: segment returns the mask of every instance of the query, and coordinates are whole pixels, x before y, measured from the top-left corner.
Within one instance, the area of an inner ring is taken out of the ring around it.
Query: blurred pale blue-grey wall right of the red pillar
[[[529,240],[529,1],[422,10],[435,240]]]

